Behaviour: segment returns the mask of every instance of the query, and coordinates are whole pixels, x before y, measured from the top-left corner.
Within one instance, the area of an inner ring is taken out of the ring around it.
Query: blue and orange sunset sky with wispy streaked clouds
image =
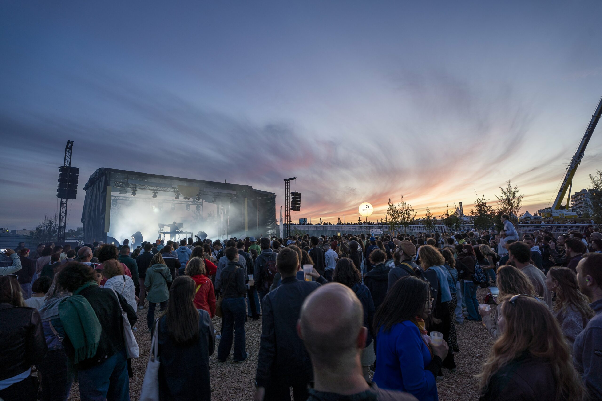
[[[536,212],[602,96],[602,2],[3,1],[0,225],[99,167],[272,191],[293,219],[470,210],[512,180]],[[573,190],[602,168],[602,126]],[[277,207],[277,213],[279,208]]]

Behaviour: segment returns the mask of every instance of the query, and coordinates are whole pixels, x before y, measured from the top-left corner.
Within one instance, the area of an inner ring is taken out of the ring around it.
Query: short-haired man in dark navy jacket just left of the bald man
[[[282,283],[264,298],[263,327],[255,385],[255,400],[306,400],[307,385],[312,380],[309,355],[297,335],[297,320],[306,296],[320,284],[297,279],[299,256],[284,248],[276,257]]]

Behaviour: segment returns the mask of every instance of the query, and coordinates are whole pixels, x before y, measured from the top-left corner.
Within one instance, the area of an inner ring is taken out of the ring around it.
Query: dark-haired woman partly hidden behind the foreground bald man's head
[[[368,335],[366,337],[366,343],[364,344],[364,350],[362,351],[362,372],[364,373],[364,379],[370,380],[370,365],[376,360],[376,354],[374,354],[374,347],[372,346],[372,340],[374,336],[373,332],[373,321],[374,321],[374,302],[372,301],[372,295],[368,287],[362,284],[362,274],[353,264],[353,260],[344,257],[338,260],[337,267],[335,267],[332,281],[335,283],[341,283],[344,286],[349,287],[358,296],[362,306],[364,307],[364,326],[368,329]]]

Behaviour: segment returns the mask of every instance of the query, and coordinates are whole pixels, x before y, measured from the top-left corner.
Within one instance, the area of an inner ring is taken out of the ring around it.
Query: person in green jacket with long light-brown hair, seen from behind
[[[149,301],[148,313],[146,315],[149,332],[155,322],[155,307],[161,304],[161,311],[167,308],[167,300],[169,299],[169,290],[167,283],[172,282],[172,274],[163,260],[160,253],[156,254],[151,260],[151,266],[146,269],[146,278],[144,286],[149,293],[146,296]]]

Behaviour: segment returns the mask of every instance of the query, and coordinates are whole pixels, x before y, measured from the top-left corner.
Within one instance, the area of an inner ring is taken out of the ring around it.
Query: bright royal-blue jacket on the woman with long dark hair
[[[397,323],[378,332],[373,381],[385,390],[408,391],[420,401],[436,401],[435,375],[426,369],[430,361],[418,326],[409,320]]]

